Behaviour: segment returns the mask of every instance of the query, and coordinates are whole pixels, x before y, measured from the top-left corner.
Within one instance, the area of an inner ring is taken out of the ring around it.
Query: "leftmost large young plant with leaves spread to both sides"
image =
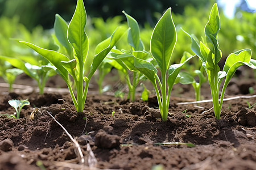
[[[97,70],[102,60],[106,57],[106,55],[110,52],[115,43],[120,39],[120,37],[125,32],[123,31],[122,27],[118,27],[114,31],[110,39],[109,46],[93,58],[89,74],[87,76],[84,76],[84,73],[86,71],[84,65],[89,50],[88,36],[86,35],[84,30],[86,18],[87,16],[84,7],[84,2],[82,0],[78,0],[75,13],[73,14],[73,17],[68,25],[67,30],[64,30],[64,27],[59,28],[62,32],[67,33],[65,34],[66,36],[62,37],[62,39],[65,42],[68,42],[72,45],[73,57],[71,58],[54,50],[40,48],[39,46],[36,46],[29,42],[20,41],[23,44],[26,44],[30,48],[34,49],[37,53],[39,53],[41,56],[43,56],[49,62],[52,63],[55,71],[61,76],[61,78],[64,79],[65,83],[67,83],[69,92],[71,94],[77,112],[82,112],[84,110],[85,99],[88,92],[90,79],[92,78],[93,74]],[[73,80],[75,82],[77,92],[76,96],[75,92],[71,87],[72,82],[69,78],[69,75],[73,77]]]

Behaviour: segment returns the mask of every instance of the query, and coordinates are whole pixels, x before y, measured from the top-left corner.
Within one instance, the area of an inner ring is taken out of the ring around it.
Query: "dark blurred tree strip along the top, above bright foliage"
[[[104,20],[116,15],[122,15],[122,10],[132,14],[139,23],[148,22],[154,27],[156,12],[162,13],[168,7],[172,7],[175,14],[182,14],[185,6],[193,6],[197,9],[211,6],[214,1],[205,0],[86,0],[86,11],[90,17],[101,17]],[[44,28],[52,28],[54,15],[60,14],[65,20],[70,20],[75,10],[76,0],[0,0],[0,15],[9,18],[18,15],[20,23],[28,29],[36,25]]]

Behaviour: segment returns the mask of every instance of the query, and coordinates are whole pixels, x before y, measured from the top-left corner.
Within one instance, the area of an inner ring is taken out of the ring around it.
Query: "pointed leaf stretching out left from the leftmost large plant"
[[[36,46],[34,44],[31,44],[30,42],[25,41],[19,41],[23,44],[26,44],[30,48],[34,49],[37,53],[39,53],[41,56],[46,58],[49,62],[52,63],[53,66],[56,67],[56,72],[60,74],[60,76],[67,81],[68,80],[68,71],[61,65],[61,61],[69,61],[67,56],[64,56],[61,53],[55,52],[53,50],[47,50],[44,48],[40,48],[39,46]]]

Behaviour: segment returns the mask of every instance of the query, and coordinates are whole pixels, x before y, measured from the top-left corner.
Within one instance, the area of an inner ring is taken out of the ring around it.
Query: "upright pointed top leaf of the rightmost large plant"
[[[220,16],[218,14],[217,3],[214,3],[212,10],[210,11],[208,23],[205,25],[204,31],[207,36],[212,35],[214,38],[216,38],[219,30]]]

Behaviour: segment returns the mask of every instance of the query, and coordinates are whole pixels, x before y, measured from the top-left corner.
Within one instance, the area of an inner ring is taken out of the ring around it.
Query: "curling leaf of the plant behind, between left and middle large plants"
[[[144,45],[143,45],[143,42],[141,41],[141,38],[139,36],[139,24],[138,24],[137,20],[135,20],[130,15],[126,14],[125,11],[122,11],[122,12],[126,16],[128,27],[131,28],[128,31],[128,42],[129,42],[129,44],[131,46],[133,46],[134,50],[143,50]]]

